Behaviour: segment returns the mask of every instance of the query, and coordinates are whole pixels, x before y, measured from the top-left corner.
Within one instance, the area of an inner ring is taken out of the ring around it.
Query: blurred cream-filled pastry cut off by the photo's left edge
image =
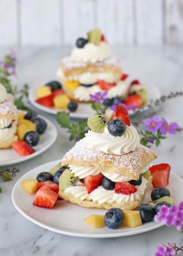
[[[18,111],[14,105],[14,98],[6,92],[0,83],[0,148],[11,148],[17,141],[16,129],[18,123]]]

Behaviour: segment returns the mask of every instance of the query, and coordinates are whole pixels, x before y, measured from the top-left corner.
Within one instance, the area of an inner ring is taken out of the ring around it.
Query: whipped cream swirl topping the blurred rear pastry
[[[71,52],[72,61],[92,62],[103,61],[111,55],[108,43],[100,42],[99,45],[87,43],[83,48],[74,47]]]

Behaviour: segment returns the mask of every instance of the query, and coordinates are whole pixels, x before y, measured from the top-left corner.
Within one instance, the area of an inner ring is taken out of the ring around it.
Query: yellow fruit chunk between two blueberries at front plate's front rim
[[[140,211],[124,210],[123,225],[129,227],[137,227],[142,225]]]

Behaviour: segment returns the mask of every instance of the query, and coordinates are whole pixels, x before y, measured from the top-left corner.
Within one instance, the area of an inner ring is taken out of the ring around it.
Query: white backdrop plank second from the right
[[[162,45],[162,1],[137,0],[137,44]]]

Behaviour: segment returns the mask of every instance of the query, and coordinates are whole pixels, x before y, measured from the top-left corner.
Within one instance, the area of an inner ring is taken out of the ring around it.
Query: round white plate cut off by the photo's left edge
[[[47,118],[38,115],[47,123],[46,131],[39,135],[39,143],[33,147],[36,152],[28,156],[20,156],[14,149],[0,149],[0,166],[14,165],[30,158],[36,157],[39,154],[50,148],[57,138],[57,129]]]

